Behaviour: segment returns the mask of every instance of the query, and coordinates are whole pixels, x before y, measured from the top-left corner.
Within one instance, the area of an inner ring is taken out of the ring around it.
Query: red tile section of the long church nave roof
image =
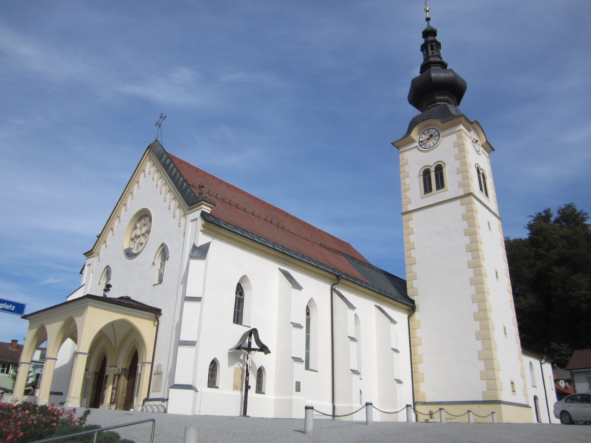
[[[187,184],[193,188],[194,193],[199,193],[200,184],[204,185],[204,196],[216,204],[211,212],[216,219],[316,260],[346,275],[367,281],[342,255],[346,254],[369,263],[349,243],[311,226],[174,155],[168,154],[168,156]]]

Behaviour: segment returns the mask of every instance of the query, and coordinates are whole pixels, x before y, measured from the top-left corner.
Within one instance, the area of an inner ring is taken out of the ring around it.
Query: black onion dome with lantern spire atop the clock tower
[[[420,75],[414,77],[408,91],[408,103],[421,112],[434,105],[458,106],[467,89],[462,77],[447,69],[447,63],[441,58],[441,43],[437,40],[437,29],[430,24],[423,30],[424,43],[421,45],[423,63]]]

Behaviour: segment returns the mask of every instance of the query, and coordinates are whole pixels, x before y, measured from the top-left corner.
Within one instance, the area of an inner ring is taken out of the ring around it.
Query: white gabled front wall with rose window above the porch
[[[112,288],[108,297],[129,296],[142,303],[161,308],[159,335],[151,371],[157,364],[163,367],[163,389],[149,392],[150,397],[165,397],[174,373],[172,351],[177,343],[177,323],[180,315],[181,278],[188,245],[185,229],[189,217],[181,217],[176,211],[176,201],[167,187],[163,187],[157,172],[151,168],[144,176],[142,171],[134,175],[133,195],[124,193],[126,207],[120,212],[112,225],[108,225],[105,239],[101,238],[98,254],[86,260],[85,275],[82,282],[87,283],[86,293],[102,295],[100,276],[106,266],[111,267]],[[144,249],[133,259],[124,255],[125,231],[135,214],[147,208],[152,214],[152,228]],[[104,241],[103,241],[104,240]],[[168,247],[169,258],[165,263],[164,278],[161,284],[154,284],[157,270],[154,265],[155,255],[162,243]],[[88,275],[88,272],[91,272]],[[144,356],[151,360],[152,356]],[[141,357],[142,358],[142,357]],[[141,361],[139,362],[141,363]],[[116,362],[108,362],[117,364]]]

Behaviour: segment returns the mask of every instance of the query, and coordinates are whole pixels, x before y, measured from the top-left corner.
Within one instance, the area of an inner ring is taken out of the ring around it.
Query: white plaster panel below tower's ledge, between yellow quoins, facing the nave
[[[423,356],[422,385],[428,402],[480,400],[486,383],[480,380],[483,363],[478,360],[479,323],[474,320],[476,304],[470,286],[473,275],[467,262],[467,239],[463,230],[463,207],[458,200],[414,213],[411,226],[417,258],[416,285],[421,321],[418,332]]]

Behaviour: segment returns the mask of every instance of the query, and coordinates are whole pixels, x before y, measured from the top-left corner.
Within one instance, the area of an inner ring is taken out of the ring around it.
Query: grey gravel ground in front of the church
[[[313,434],[303,432],[304,421],[295,419],[190,416],[154,412],[92,409],[87,424],[105,428],[155,419],[154,441],[183,443],[184,428],[197,427],[202,442],[525,442],[569,443],[591,441],[591,426],[548,424],[387,423],[315,420]],[[150,441],[151,423],[116,429],[136,443]]]

